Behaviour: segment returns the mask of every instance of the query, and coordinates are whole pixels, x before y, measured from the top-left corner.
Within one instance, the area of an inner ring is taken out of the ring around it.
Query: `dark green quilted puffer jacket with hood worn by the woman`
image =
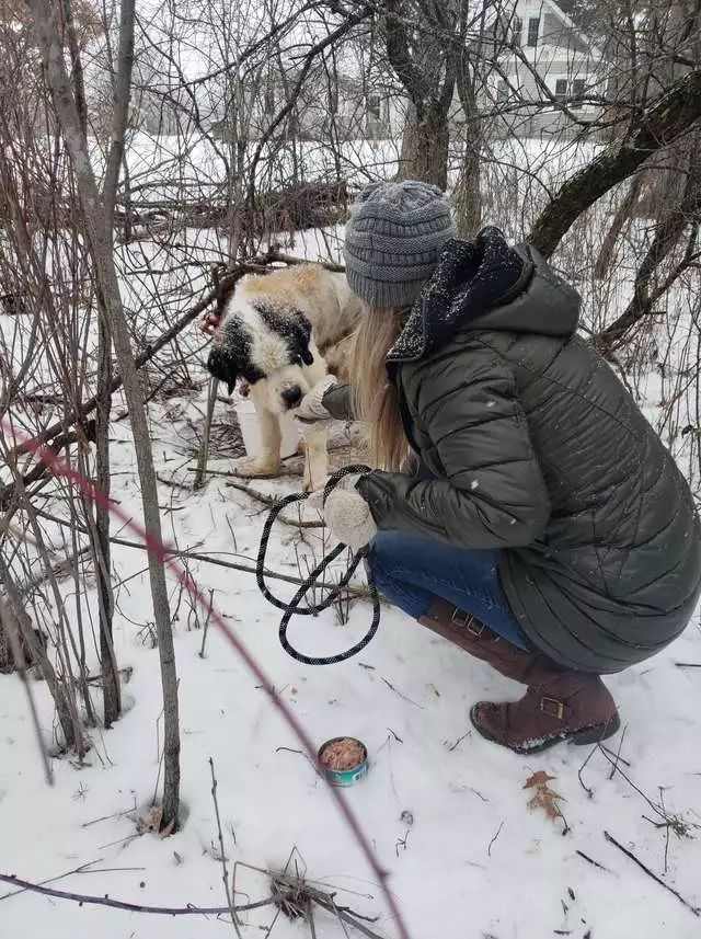
[[[683,630],[701,529],[671,456],[576,334],[578,311],[576,291],[496,229],[449,242],[388,357],[425,471],[358,489],[379,528],[503,549],[536,646],[610,673]]]

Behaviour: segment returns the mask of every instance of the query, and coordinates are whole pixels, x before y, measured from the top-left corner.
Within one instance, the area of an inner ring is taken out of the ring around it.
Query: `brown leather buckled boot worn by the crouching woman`
[[[514,703],[480,701],[470,711],[475,730],[515,753],[537,753],[561,741],[590,744],[620,728],[613,698],[598,675],[560,668],[539,652],[526,652],[480,620],[436,599],[420,622],[524,685]]]

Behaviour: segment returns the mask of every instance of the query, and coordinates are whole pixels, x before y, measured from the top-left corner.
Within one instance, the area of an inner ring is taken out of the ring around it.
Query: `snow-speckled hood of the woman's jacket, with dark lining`
[[[463,330],[572,335],[582,299],[528,244],[510,248],[497,228],[446,242],[388,363],[417,362]]]

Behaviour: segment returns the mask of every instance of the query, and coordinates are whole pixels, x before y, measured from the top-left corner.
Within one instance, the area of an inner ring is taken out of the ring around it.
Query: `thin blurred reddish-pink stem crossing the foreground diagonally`
[[[90,480],[87,480],[81,473],[70,467],[67,462],[59,459],[56,454],[48,449],[48,447],[43,446],[34,442],[28,435],[23,432],[18,432],[14,427],[11,427],[5,421],[0,420],[0,427],[16,438],[22,440],[24,447],[34,454],[35,457],[38,457],[50,470],[51,473],[56,477],[65,477],[76,489],[79,489],[93,504],[97,504],[103,508],[106,508],[112,515],[116,516],[124,525],[131,529],[135,534],[141,537],[148,548],[150,553],[153,553],[158,560],[171,571],[171,573],[176,577],[179,583],[183,585],[183,588],[187,591],[193,600],[200,607],[203,612],[209,614],[214,623],[218,627],[218,629],[223,633],[225,638],[229,642],[229,644],[233,648],[234,652],[241,656],[243,662],[245,663],[249,671],[253,674],[256,680],[260,683],[264,691],[267,694],[271,699],[273,706],[277,708],[279,713],[281,714],[284,721],[289,725],[292,733],[300,742],[304,751],[307,752],[308,757],[310,758],[313,766],[317,765],[317,751],[311,741],[311,737],[307,734],[307,731],[302,726],[301,722],[295,717],[294,712],[287,707],[283,698],[277,694],[273,683],[267,677],[263,668],[258,665],[255,660],[255,656],[246,649],[245,644],[239,639],[235,632],[231,629],[231,627],[226,622],[221,614],[219,614],[214,605],[209,606],[208,599],[202,593],[202,591],[194,583],[192,576],[187,575],[187,572],[180,563],[180,561],[169,556],[169,549],[160,541],[158,538],[154,538],[149,531],[141,527],[137,522],[135,522],[127,513],[119,506],[112,502],[107,496],[102,492],[102,490],[97,489]],[[370,843],[363,832],[360,827],[360,823],[358,822],[355,813],[346,802],[340,789],[333,787],[329,780],[325,779],[333,799],[335,800],[336,806],[344,817],[346,824],[350,828],[355,840],[357,841],[360,851],[365,855],[367,862],[369,863],[372,873],[377,878],[382,893],[384,894],[384,898],[387,901],[387,905],[397,923],[397,928],[399,930],[400,939],[411,939],[409,930],[404,924],[404,919],[402,914],[400,913],[399,906],[397,905],[397,901],[392,895],[389,886],[387,884],[388,881],[388,872],[382,868],[379,860],[377,859],[375,851],[372,850]]]

